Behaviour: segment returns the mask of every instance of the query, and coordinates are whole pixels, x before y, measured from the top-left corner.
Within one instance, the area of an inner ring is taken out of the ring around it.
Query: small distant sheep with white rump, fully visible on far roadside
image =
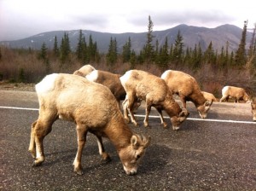
[[[235,98],[235,102],[239,102],[240,100],[249,101],[249,96],[244,89],[235,86],[224,86],[220,102],[229,101],[231,97]]]

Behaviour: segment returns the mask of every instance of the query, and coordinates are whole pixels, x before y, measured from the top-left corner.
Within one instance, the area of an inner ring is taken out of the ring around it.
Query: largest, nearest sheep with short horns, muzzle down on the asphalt
[[[117,101],[102,84],[72,74],[50,74],[36,84],[39,116],[32,124],[29,151],[35,159],[34,166],[44,162],[44,137],[49,134],[56,119],[75,122],[78,151],[73,161],[74,171],[82,174],[82,151],[88,132],[97,138],[99,153],[109,159],[102,144],[106,136],[119,154],[126,174],[137,173],[137,167],[150,142],[134,134],[125,123]]]

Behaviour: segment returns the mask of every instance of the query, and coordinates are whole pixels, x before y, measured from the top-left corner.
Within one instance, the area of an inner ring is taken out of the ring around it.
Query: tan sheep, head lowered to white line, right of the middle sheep
[[[177,94],[186,108],[186,101],[192,101],[202,119],[207,118],[207,113],[212,105],[212,101],[202,95],[199,85],[195,78],[185,72],[166,70],[161,75],[166,81],[173,94]]]

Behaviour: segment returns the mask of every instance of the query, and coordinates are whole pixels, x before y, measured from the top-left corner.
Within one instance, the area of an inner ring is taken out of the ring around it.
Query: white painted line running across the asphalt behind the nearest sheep
[[[30,110],[30,111],[38,111],[38,108],[26,108],[26,107],[4,107],[0,106],[0,108],[5,109],[19,109],[19,110]],[[145,115],[137,115],[134,116],[138,118],[145,118]],[[160,116],[155,115],[149,115],[149,118],[160,118]],[[164,117],[165,119],[169,119],[169,117]],[[222,123],[236,123],[236,124],[256,124],[256,122],[253,121],[236,121],[236,120],[224,120],[224,119],[196,119],[196,118],[187,118],[187,120],[193,120],[193,121],[213,121],[213,122],[222,122]]]

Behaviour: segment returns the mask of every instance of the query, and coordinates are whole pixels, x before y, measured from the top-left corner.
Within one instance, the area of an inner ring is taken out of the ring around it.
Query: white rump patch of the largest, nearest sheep
[[[58,73],[52,73],[44,77],[44,79],[36,84],[37,93],[44,93],[53,90],[55,87],[55,78],[59,76]]]

